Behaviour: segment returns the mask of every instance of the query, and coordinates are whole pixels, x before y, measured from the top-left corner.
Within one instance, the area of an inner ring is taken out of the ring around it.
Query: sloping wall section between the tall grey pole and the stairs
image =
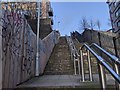
[[[55,44],[59,40],[60,34],[56,31],[51,32],[47,37],[40,40],[40,74],[43,74],[45,66],[49,60]]]

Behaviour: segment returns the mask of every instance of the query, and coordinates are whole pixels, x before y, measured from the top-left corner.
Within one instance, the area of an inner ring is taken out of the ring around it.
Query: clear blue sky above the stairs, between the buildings
[[[99,19],[102,30],[110,29],[108,26],[109,10],[105,2],[52,2],[51,5],[54,11],[53,28],[59,29],[61,35],[69,35],[75,30],[81,33],[80,20],[83,16],[88,20]],[[59,25],[58,22],[60,22]]]

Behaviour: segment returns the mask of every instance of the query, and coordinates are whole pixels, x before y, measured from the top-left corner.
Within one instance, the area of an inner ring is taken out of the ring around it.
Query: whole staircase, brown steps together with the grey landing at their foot
[[[76,47],[81,44],[73,40]],[[85,64],[84,64],[85,65]],[[69,90],[69,89],[89,89],[101,90],[98,74],[93,74],[93,82],[88,81],[88,67],[85,65],[85,79],[81,81],[81,75],[74,75],[73,61],[70,59],[70,51],[65,37],[60,37],[59,43],[55,46],[51,57],[46,65],[44,75],[34,77],[31,80],[18,86],[16,90]],[[93,67],[95,68],[95,67]],[[94,70],[94,69],[93,69]],[[107,89],[115,90],[111,76],[107,77]]]

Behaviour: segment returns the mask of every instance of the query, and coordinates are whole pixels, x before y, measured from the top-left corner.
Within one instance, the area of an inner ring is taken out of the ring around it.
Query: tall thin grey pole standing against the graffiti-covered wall
[[[39,76],[39,28],[40,28],[40,2],[38,4],[38,21],[37,21],[37,52],[36,52],[36,72],[35,76]]]

